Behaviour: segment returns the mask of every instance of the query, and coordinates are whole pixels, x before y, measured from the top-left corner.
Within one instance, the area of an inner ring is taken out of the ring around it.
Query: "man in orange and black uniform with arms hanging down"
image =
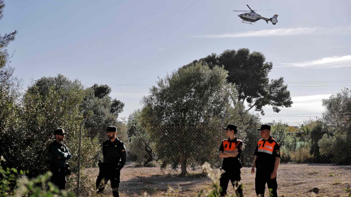
[[[257,142],[254,155],[251,174],[256,171],[255,190],[256,195],[264,197],[266,183],[269,189],[270,196],[277,195],[277,169],[280,162],[280,145],[271,136],[271,126],[267,124],[261,125],[260,131],[261,140]]]

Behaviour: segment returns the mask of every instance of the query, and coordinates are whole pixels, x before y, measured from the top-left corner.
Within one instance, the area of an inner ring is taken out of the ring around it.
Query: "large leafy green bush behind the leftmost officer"
[[[47,89],[47,83],[54,86]],[[29,87],[21,106],[12,105],[11,110],[16,116],[9,121],[11,127],[1,132],[1,149],[8,158],[8,165],[30,170],[29,177],[46,172],[49,169],[47,147],[54,140],[53,130],[59,127],[69,133],[65,143],[72,155],[78,155],[79,126],[83,120],[81,103],[84,95],[84,89],[77,81],[69,82],[62,75],[50,79],[43,77]],[[85,167],[91,163],[100,145],[96,139],[88,138],[85,130],[82,132],[84,157],[81,166]],[[73,156],[70,161],[72,177],[78,171],[77,163],[78,157]]]

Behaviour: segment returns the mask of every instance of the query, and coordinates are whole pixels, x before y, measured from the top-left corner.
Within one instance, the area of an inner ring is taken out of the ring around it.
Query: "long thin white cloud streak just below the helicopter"
[[[291,35],[340,35],[351,34],[351,27],[324,28],[324,27],[303,27],[303,28],[278,28],[263,29],[259,31],[248,31],[229,34],[195,35],[193,38],[244,38],[244,37],[267,37],[267,36],[291,36]]]

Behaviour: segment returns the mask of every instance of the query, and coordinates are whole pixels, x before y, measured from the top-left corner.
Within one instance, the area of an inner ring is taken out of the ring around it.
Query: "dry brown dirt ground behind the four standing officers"
[[[175,196],[197,196],[201,189],[210,188],[210,179],[201,174],[201,169],[188,169],[189,175],[180,176],[180,171],[160,170],[159,167],[133,168],[127,165],[121,170],[120,196],[140,196],[144,191],[150,196],[166,196],[167,185],[181,191]],[[245,196],[256,196],[251,168],[241,169]],[[98,169],[85,169],[91,182],[95,182]],[[280,164],[277,175],[278,196],[313,196],[313,187],[319,188],[316,196],[347,196],[343,188],[351,184],[351,166],[330,164]],[[351,188],[351,186],[350,186]],[[228,194],[233,194],[231,186]],[[104,195],[111,195],[110,185]],[[266,194],[268,191],[266,188]]]

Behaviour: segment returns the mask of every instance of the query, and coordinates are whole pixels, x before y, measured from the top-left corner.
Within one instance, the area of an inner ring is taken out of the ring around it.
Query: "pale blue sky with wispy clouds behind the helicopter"
[[[350,0],[7,0],[5,4],[0,33],[18,30],[8,50],[15,51],[11,65],[25,87],[31,79],[58,73],[86,86],[109,84],[111,96],[125,103],[121,117],[141,107],[141,97],[157,77],[226,49],[246,47],[273,62],[270,78],[283,76],[294,101],[279,114],[320,114],[321,99],[351,87]],[[273,9],[257,13],[267,18],[278,14],[279,22],[241,23],[240,12],[232,10],[247,10],[246,4]],[[306,81],[320,82],[293,84]],[[265,109],[267,115],[273,114],[270,107]]]

